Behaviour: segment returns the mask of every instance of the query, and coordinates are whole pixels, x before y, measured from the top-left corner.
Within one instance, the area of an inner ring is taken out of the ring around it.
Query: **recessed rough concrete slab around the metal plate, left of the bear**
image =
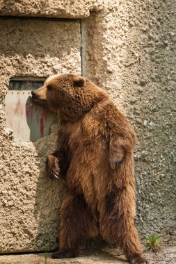
[[[0,19],[0,32],[0,251],[54,249],[65,189],[46,178],[45,159],[56,148],[58,124],[37,142],[14,142],[2,104],[10,77],[81,74],[79,22]]]

